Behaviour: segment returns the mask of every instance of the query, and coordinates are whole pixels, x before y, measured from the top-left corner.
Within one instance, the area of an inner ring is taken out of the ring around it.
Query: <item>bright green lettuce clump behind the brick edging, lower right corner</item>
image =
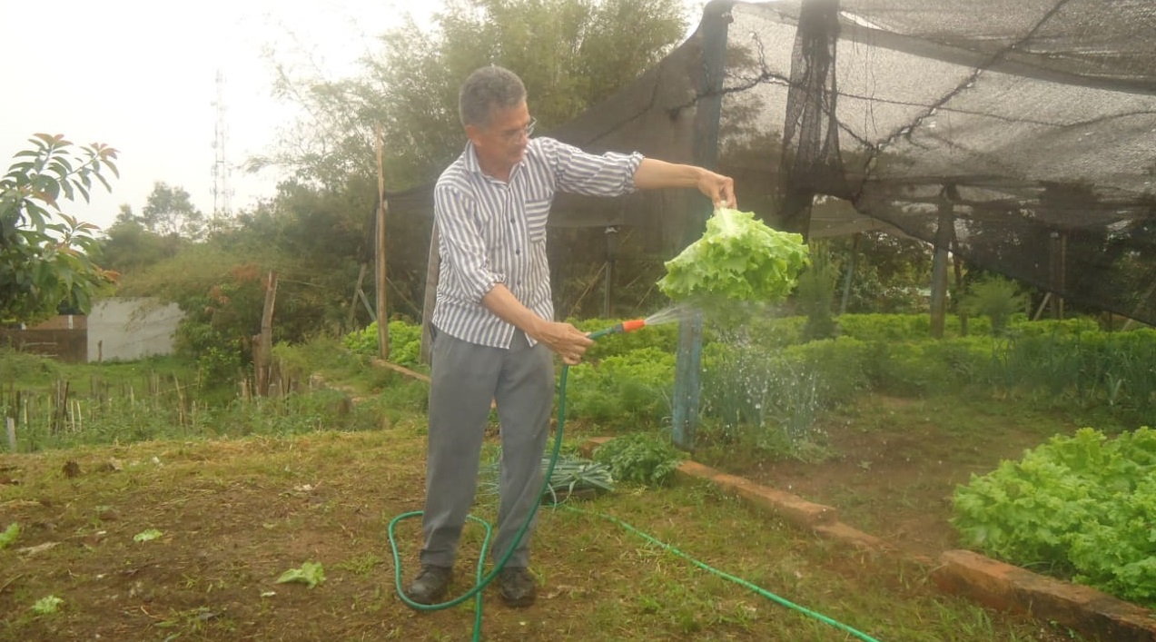
[[[955,492],[955,511],[969,546],[1156,605],[1156,430],[1053,437],[1020,462],[972,475]]]

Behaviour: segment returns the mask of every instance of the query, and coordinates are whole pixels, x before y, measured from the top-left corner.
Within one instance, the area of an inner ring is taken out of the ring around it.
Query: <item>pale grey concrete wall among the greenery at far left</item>
[[[183,316],[176,303],[162,305],[154,298],[98,300],[88,315],[88,361],[172,354]]]

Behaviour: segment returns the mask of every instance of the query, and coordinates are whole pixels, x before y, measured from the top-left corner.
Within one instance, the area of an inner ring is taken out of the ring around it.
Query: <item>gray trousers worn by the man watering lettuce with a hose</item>
[[[553,355],[542,344],[531,347],[520,331],[509,348],[479,346],[436,332],[431,377],[421,563],[453,566],[477,492],[491,400],[502,426],[501,504],[491,546],[494,560],[501,560],[540,499],[542,453],[554,405]],[[533,527],[526,530],[506,566],[529,566]]]

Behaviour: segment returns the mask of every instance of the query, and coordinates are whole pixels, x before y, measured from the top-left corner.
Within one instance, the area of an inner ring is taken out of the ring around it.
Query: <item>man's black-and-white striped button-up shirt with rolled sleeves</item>
[[[433,325],[470,344],[509,347],[514,326],[482,305],[482,297],[497,283],[535,315],[554,320],[546,261],[546,221],[554,194],[630,193],[642,161],[637,153],[594,155],[535,138],[510,172],[510,182],[503,183],[482,174],[473,145],[466,143],[433,187],[442,254]]]

